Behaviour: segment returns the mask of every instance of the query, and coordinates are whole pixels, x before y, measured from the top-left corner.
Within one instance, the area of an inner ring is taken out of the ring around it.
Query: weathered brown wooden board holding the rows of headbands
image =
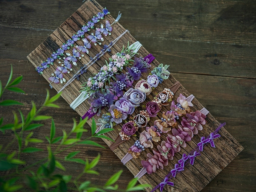
[[[95,1],[87,1],[85,2],[74,14],[72,14],[63,24],[60,25],[42,44],[40,44],[33,52],[28,55],[28,59],[32,62],[32,64],[37,67],[39,66],[45,59],[50,57],[53,51],[56,51],[63,43],[66,42],[67,39],[71,38],[71,36],[79,30],[83,24],[87,21],[91,20],[92,16],[97,12],[102,11],[102,7]],[[107,15],[105,20],[109,20],[110,23],[115,19],[111,15]],[[100,23],[105,24],[105,20]],[[99,25],[99,24],[98,24]],[[117,36],[122,34],[125,29],[119,24],[115,24],[113,26],[112,35],[105,38],[104,43],[109,44],[110,41],[113,41]],[[131,43],[135,42],[136,39],[132,37],[129,33],[126,33],[113,47],[111,54],[106,53],[103,57],[100,58],[97,63],[93,64],[87,73],[85,73],[80,81],[74,81],[68,87],[66,87],[62,93],[62,97],[70,104],[76,97],[80,94],[80,85],[88,79],[89,76],[92,76],[97,70],[110,57],[112,54],[116,52],[120,52],[123,45],[126,45],[128,41]],[[93,49],[90,49],[90,56],[93,56],[100,52],[101,47],[96,46]],[[70,52],[71,53],[71,52]],[[139,55],[145,57],[148,54],[148,51],[145,48],[140,48]],[[82,58],[82,62],[88,62],[90,60],[89,56],[84,56]],[[157,60],[154,60],[152,68],[157,66],[159,63]],[[171,63],[164,63],[171,64]],[[48,78],[51,76],[51,73],[55,71],[58,63],[55,61],[53,66],[44,70],[44,74],[42,75],[49,83]],[[65,76],[68,80],[70,77],[74,75],[74,73],[82,66],[81,63],[78,63],[77,67],[73,67],[73,71]],[[36,73],[36,72],[35,72]],[[142,78],[145,78],[147,75],[143,75]],[[168,80],[164,81],[164,84],[161,84],[154,90],[149,96],[150,99],[154,97],[154,95],[163,90],[165,86],[168,86],[175,83],[176,79],[173,76],[170,76]],[[136,82],[135,82],[136,83]],[[56,91],[59,91],[63,85],[62,84],[54,84],[53,88]],[[182,93],[185,96],[190,95],[190,93],[181,86],[180,89],[174,96],[174,100],[177,99],[179,93]],[[148,100],[150,100],[148,99]],[[147,101],[148,101],[147,100]],[[192,111],[200,110],[203,106],[196,100],[193,100],[194,107],[192,107]],[[76,108],[76,112],[83,116],[84,113],[89,109],[90,103],[85,101],[79,107]],[[162,110],[168,110],[168,106],[163,108]],[[105,110],[103,113],[106,112]],[[95,116],[95,119],[99,117]],[[88,124],[91,124],[91,119],[88,120]],[[152,120],[152,122],[154,119]],[[181,149],[179,153],[177,153],[174,157],[173,161],[169,161],[168,166],[165,167],[164,170],[158,170],[156,173],[151,175],[144,175],[139,181],[140,183],[149,183],[152,187],[156,186],[159,182],[162,181],[164,175],[166,175],[173,167],[174,164],[177,163],[178,159],[181,158],[183,153],[188,153],[193,148],[196,147],[196,143],[200,141],[201,136],[208,136],[210,132],[214,131],[215,128],[220,124],[211,114],[207,115],[206,118],[207,124],[204,126],[203,131],[199,132],[192,141],[188,142],[188,146],[184,149]],[[118,135],[121,126],[115,126],[116,131],[111,132],[108,136],[112,139],[115,139]],[[139,130],[141,131],[141,130]],[[215,141],[216,148],[207,147],[204,149],[202,155],[195,162],[194,166],[189,166],[188,169],[185,169],[182,173],[178,174],[177,177],[172,180],[175,183],[173,191],[200,191],[206,186],[224,167],[226,167],[242,150],[243,147],[225,130],[222,128],[220,131],[222,137],[218,138]],[[164,134],[162,134],[162,140],[164,140]],[[116,150],[114,150],[116,156],[119,159],[122,159],[126,154],[127,149],[134,143],[134,140],[137,138],[132,138],[130,141],[124,142],[121,144]],[[110,141],[104,140],[108,145],[111,144]],[[155,145],[156,146],[156,145]],[[138,159],[132,159],[130,162],[126,164],[127,168],[132,172],[133,175],[136,175],[140,169],[142,168],[140,161],[146,159],[146,154],[151,152],[151,150],[147,149],[144,153],[140,155]],[[121,163],[121,162],[120,162]],[[164,190],[169,191],[168,187],[165,187]],[[150,189],[147,189],[150,191]]]

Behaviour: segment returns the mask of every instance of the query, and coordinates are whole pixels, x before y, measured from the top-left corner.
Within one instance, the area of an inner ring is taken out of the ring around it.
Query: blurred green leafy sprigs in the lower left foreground
[[[5,90],[25,93],[20,88],[14,86],[19,84],[21,80],[22,76],[19,76],[12,81],[11,67],[11,73],[4,88],[0,80],[0,99]],[[0,191],[28,191],[29,188],[29,191],[37,192],[65,192],[68,191],[68,188],[72,188],[72,191],[76,190],[81,192],[105,192],[107,190],[137,191],[143,190],[145,187],[149,187],[149,185],[136,185],[137,179],[135,178],[128,183],[125,190],[119,189],[119,186],[115,183],[119,179],[122,170],[110,176],[107,182],[102,186],[93,185],[89,180],[81,181],[81,178],[85,174],[100,174],[99,172],[94,170],[100,160],[100,155],[94,158],[91,162],[88,159],[83,160],[81,158],[76,158],[76,155],[79,154],[80,151],[76,151],[74,147],[76,145],[93,145],[96,147],[104,148],[103,146],[91,139],[102,138],[111,140],[110,138],[105,136],[104,133],[110,132],[113,129],[104,129],[98,133],[95,133],[96,124],[94,119],[92,119],[92,135],[82,140],[81,138],[83,132],[88,131],[87,129],[84,129],[84,124],[86,123],[87,119],[80,119],[79,123],[77,123],[76,120],[73,119],[73,127],[70,132],[66,132],[65,130],[63,130],[63,135],[56,137],[56,127],[54,120],[51,116],[40,115],[40,112],[45,107],[59,108],[59,106],[54,104],[54,102],[60,97],[60,94],[61,93],[56,94],[55,96],[50,98],[49,91],[47,90],[44,104],[39,109],[37,109],[35,103],[32,102],[31,110],[28,112],[28,115],[26,117],[23,115],[20,109],[18,110],[19,115],[17,115],[17,113],[13,111],[13,123],[4,124],[4,117],[1,117],[0,131],[2,132],[2,136],[5,134],[6,131],[9,131],[14,134],[14,138],[6,146],[0,144]],[[12,105],[22,105],[22,103],[15,100],[3,100],[0,102],[0,106]],[[52,119],[49,135],[45,136],[45,139],[33,137],[33,131],[40,129],[44,125],[36,122],[41,122],[48,119]],[[44,142],[48,142],[46,144],[46,149],[48,153],[46,157],[40,159],[33,164],[26,164],[26,162],[28,162],[28,159],[21,159],[22,154],[33,154],[36,152],[40,153],[44,151],[45,148],[39,148],[35,145],[36,143]],[[31,147],[31,144],[33,145],[33,147]],[[10,151],[10,146],[14,145],[18,146],[18,150]],[[66,155],[64,158],[61,158],[60,154],[67,150],[73,151]],[[70,162],[70,164],[82,164],[84,166],[84,169],[78,175],[60,174],[60,170],[66,171],[66,168],[63,166],[63,162]],[[26,164],[26,173],[24,173],[24,168],[22,168],[22,165],[24,164]]]

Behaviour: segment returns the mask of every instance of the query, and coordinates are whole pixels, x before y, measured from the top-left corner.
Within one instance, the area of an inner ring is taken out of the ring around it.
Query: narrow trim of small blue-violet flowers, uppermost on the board
[[[41,75],[43,74],[43,71],[44,69],[46,68],[49,68],[50,67],[50,64],[53,65],[53,62],[60,58],[60,56],[63,56],[64,54],[64,51],[70,49],[70,47],[73,47],[74,46],[74,43],[78,40],[80,40],[80,37],[84,37],[84,34],[87,32],[87,31],[90,31],[90,29],[93,29],[94,28],[94,25],[96,23],[98,23],[100,20],[103,20],[104,19],[104,16],[107,15],[107,14],[110,14],[110,12],[108,12],[108,10],[105,8],[102,10],[102,12],[98,12],[96,14],[96,16],[93,16],[92,19],[90,21],[88,21],[86,23],[86,25],[83,25],[82,29],[78,30],[76,32],[76,34],[74,34],[70,39],[67,40],[66,43],[64,43],[57,51],[53,52],[51,57],[47,58],[47,60],[45,60],[43,63],[41,63],[41,66],[38,66],[36,67],[36,71]],[[120,16],[117,18],[118,20],[120,19],[121,17],[121,14]],[[117,20],[117,21],[118,21]],[[101,28],[103,30],[103,32],[105,30],[109,30],[111,28],[109,28],[109,25],[106,24],[106,28]],[[98,33],[98,32],[97,32]],[[95,33],[96,34],[96,33]],[[94,36],[92,34],[92,36]],[[93,39],[93,38],[92,38]],[[86,45],[85,45],[86,46]]]

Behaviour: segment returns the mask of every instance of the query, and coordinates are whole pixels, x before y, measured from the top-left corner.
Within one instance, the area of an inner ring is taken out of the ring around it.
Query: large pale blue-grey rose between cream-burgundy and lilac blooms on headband
[[[124,99],[130,101],[134,107],[140,106],[140,103],[145,101],[146,93],[138,89],[129,89],[124,93]]]

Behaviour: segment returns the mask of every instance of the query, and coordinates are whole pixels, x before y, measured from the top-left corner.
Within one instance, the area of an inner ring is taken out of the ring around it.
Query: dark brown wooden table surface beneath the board
[[[172,76],[207,108],[244,147],[244,150],[224,168],[202,191],[256,191],[255,107],[256,107],[256,2],[255,1],[181,1],[140,0],[104,1],[113,17],[122,13],[119,23],[128,29],[160,63],[170,65]],[[82,1],[65,0],[1,0],[0,1],[0,78],[5,84],[11,65],[14,77],[23,76],[19,87],[26,94],[5,92],[1,99],[15,99],[25,105],[26,114],[31,101],[43,104],[49,84],[39,76],[26,58],[60,24],[81,5]],[[50,90],[50,94],[56,94]],[[47,108],[61,130],[70,130],[72,118],[78,114],[60,98],[59,109]],[[4,107],[0,115],[12,122],[12,110]],[[48,134],[49,124],[34,132],[38,138]],[[90,127],[88,127],[90,129]],[[85,133],[90,135],[90,132]],[[0,134],[0,143],[8,143],[12,135]],[[123,169],[120,186],[133,178],[108,146],[106,149],[83,147],[82,158],[93,159],[101,154],[97,166],[99,176],[89,175],[93,182],[106,182],[110,174]],[[16,148],[17,146],[12,146]],[[80,149],[81,150],[81,149]],[[46,155],[46,154],[44,154]],[[42,156],[34,156],[34,160]],[[68,166],[68,164],[67,164]],[[81,167],[69,164],[68,172]],[[124,187],[123,187],[124,188]]]

